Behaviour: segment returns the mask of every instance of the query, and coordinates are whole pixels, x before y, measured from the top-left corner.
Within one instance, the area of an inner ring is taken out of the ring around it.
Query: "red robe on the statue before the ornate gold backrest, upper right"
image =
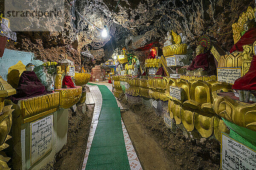
[[[236,42],[230,50],[230,53],[234,51],[244,51],[243,45],[253,44],[256,41],[256,27],[250,28],[244,35]]]

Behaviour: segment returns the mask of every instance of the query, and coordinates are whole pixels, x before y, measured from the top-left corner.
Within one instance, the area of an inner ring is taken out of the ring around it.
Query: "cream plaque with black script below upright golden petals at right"
[[[241,77],[241,68],[217,68],[217,77],[219,82],[234,84]]]

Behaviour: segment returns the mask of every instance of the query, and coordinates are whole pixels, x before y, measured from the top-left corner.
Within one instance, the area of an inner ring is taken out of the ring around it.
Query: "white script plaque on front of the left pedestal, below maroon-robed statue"
[[[30,123],[30,161],[34,164],[52,149],[53,115]]]

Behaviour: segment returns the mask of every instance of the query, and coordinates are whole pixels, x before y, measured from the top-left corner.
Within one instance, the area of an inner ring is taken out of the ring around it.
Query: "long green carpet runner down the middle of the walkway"
[[[97,86],[102,94],[102,108],[85,169],[130,170],[122,132],[120,108],[117,106],[115,97],[105,85]]]

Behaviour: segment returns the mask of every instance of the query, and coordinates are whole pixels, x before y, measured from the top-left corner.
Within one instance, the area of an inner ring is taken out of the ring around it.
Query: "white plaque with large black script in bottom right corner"
[[[222,133],[222,170],[256,170],[256,152]]]

